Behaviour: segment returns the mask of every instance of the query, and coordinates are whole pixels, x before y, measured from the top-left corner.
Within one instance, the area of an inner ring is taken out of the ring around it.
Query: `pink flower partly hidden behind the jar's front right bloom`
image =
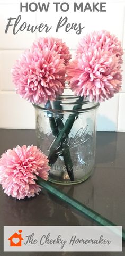
[[[123,49],[121,42],[115,35],[111,35],[109,31],[101,30],[87,34],[79,42],[77,55],[88,51],[90,46],[96,47],[96,49],[101,49],[104,52],[110,52],[111,55],[114,54],[118,57],[119,63],[122,64]]]

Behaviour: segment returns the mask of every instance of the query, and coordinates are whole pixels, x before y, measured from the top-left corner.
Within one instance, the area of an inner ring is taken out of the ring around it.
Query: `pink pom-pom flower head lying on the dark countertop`
[[[25,145],[7,150],[0,159],[0,184],[7,195],[24,199],[39,194],[37,175],[47,180],[48,159],[37,147]]]

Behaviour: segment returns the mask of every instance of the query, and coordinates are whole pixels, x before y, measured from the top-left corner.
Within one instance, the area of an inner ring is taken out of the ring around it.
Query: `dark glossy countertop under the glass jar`
[[[17,145],[36,145],[34,130],[0,129],[0,155]],[[93,176],[78,185],[58,186],[125,229],[125,133],[97,133]],[[16,200],[0,189],[0,256],[121,256],[122,252],[3,252],[3,226],[96,225],[42,190],[33,199]]]

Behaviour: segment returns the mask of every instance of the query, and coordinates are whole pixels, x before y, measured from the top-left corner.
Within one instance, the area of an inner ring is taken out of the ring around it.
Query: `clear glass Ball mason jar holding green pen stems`
[[[49,158],[49,181],[77,184],[93,171],[96,146],[96,110],[99,103],[69,95],[34,105],[38,147]]]

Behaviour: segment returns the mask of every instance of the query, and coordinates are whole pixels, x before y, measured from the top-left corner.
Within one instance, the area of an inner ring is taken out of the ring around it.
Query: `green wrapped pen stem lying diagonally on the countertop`
[[[48,192],[58,197],[60,200],[64,201],[65,203],[68,203],[70,206],[72,206],[77,211],[83,213],[85,216],[90,218],[91,220],[97,222],[97,224],[101,226],[117,226],[110,220],[104,218],[99,213],[93,211],[89,207],[86,207],[86,205],[82,204],[81,202],[73,199],[72,197],[69,197],[64,192],[59,191],[59,189],[55,188],[54,186],[50,185],[48,181],[45,181],[41,177],[37,176],[38,180],[36,183],[40,185],[41,187],[45,188]],[[122,229],[122,239],[125,240],[125,230]]]

